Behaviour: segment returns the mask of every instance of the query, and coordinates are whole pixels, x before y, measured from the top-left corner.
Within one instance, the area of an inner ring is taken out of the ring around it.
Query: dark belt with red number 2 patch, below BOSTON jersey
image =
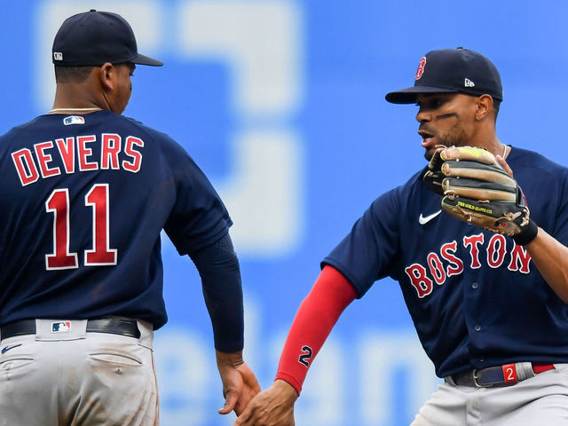
[[[538,375],[544,371],[554,369],[553,364],[530,363],[533,373]],[[452,375],[452,380],[460,386],[475,386],[477,388],[493,388],[498,386],[510,386],[521,382],[529,377],[518,375],[516,364],[469,370]]]

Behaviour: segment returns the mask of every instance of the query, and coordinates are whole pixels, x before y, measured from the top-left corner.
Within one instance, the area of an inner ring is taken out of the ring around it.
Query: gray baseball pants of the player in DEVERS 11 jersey
[[[152,327],[138,321],[135,338],[70,322],[53,335],[36,319],[36,335],[0,342],[0,425],[157,426]]]

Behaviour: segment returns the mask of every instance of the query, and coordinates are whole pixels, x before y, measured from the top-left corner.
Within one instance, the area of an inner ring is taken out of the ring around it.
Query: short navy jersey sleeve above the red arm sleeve
[[[343,241],[321,262],[341,272],[357,291],[365,295],[376,280],[390,274],[400,247],[399,215],[401,187],[383,193],[353,225]]]

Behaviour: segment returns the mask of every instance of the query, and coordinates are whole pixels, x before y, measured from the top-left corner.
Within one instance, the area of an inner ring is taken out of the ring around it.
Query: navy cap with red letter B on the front
[[[387,93],[392,104],[413,104],[419,93],[460,92],[474,96],[490,95],[503,100],[501,77],[493,62],[477,51],[441,49],[429,51],[420,59],[414,86]]]

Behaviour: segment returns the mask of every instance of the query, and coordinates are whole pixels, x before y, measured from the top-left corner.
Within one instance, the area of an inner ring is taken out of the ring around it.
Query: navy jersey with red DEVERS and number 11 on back
[[[0,178],[0,324],[118,315],[162,327],[162,229],[183,255],[232,225],[181,146],[109,111],[10,130]]]

